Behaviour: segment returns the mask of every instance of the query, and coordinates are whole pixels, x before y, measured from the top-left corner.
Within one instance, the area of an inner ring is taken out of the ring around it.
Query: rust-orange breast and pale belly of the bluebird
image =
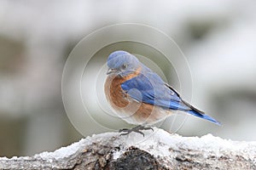
[[[119,116],[126,116],[123,118],[126,122],[132,124],[158,122],[168,116],[170,112],[163,111],[160,107],[154,105],[129,99],[121,88],[123,82],[130,80],[132,77],[137,77],[138,74],[139,71],[135,71],[128,77],[109,75],[104,87],[108,102],[118,112]]]

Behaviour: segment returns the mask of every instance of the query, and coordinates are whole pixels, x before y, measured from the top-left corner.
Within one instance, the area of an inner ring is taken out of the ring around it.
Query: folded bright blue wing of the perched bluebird
[[[172,110],[188,111],[176,91],[168,87],[154,72],[139,74],[121,84],[121,88],[131,97],[140,102]]]

